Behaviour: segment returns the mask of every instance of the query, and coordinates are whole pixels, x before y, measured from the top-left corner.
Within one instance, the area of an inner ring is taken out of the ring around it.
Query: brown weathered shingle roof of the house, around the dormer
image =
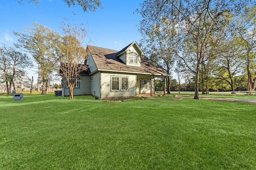
[[[130,44],[131,45],[131,44]],[[168,76],[164,70],[151,63],[144,57],[141,57],[141,66],[129,66],[124,64],[121,59],[116,57],[120,52],[122,53],[127,49],[125,47],[121,51],[105,49],[101,47],[95,47],[87,45],[87,49],[89,50],[92,58],[98,68],[98,70],[111,70],[115,72],[132,72],[137,74],[151,74],[158,76]]]

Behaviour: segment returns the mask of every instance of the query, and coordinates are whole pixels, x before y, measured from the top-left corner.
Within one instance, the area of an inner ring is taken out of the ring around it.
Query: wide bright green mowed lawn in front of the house
[[[0,96],[0,169],[252,169],[255,104]]]

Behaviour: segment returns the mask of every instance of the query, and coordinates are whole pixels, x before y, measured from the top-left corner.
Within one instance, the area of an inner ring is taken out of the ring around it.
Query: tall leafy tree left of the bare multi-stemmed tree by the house
[[[42,77],[42,94],[47,94],[48,75],[54,71],[58,62],[57,51],[60,35],[39,23],[32,23],[35,28],[24,28],[26,33],[14,31],[19,45],[30,53],[38,64],[38,78]],[[38,81],[39,82],[39,81]]]

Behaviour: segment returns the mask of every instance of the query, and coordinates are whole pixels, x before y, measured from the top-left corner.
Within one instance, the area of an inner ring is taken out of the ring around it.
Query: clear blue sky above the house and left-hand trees
[[[32,22],[61,34],[59,26],[64,18],[84,24],[88,32],[86,42],[90,39],[88,45],[120,51],[134,41],[140,42],[136,25],[142,17],[135,10],[143,0],[100,0],[103,8],[95,12],[84,12],[81,6],[68,8],[62,0],[39,0],[39,7],[23,1],[22,4],[17,0],[0,1],[0,47],[16,43],[17,37],[12,32],[24,33],[24,27],[34,27]]]

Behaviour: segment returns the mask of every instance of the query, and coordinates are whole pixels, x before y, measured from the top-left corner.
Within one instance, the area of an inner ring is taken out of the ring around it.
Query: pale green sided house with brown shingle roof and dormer
[[[134,97],[151,94],[154,78],[169,76],[145,59],[134,41],[121,51],[87,46],[89,69],[76,78],[74,95],[92,95],[99,99]],[[68,85],[62,79],[62,96],[69,96]]]

